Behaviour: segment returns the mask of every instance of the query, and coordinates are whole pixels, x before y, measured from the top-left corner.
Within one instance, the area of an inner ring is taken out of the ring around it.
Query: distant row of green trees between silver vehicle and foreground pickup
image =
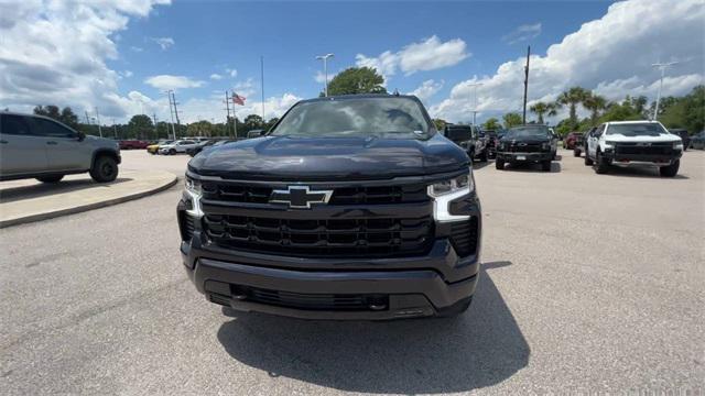
[[[82,122],[80,118],[74,113],[70,107],[59,109],[57,106],[36,106],[33,111],[35,114],[45,116],[54,120],[61,121],[66,125],[91,135],[100,135],[117,140],[159,140],[171,139],[173,132],[176,138],[189,136],[229,136],[229,138],[247,138],[249,131],[269,130],[279,121],[272,118],[269,121],[262,120],[258,114],[249,114],[241,121],[238,118],[230,117],[227,122],[214,123],[200,120],[187,124],[172,124],[165,121],[159,121],[156,124],[147,114],[135,114],[130,118],[128,123],[101,124],[98,128],[94,122]],[[235,125],[234,125],[235,123]],[[235,134],[237,127],[237,136]]]

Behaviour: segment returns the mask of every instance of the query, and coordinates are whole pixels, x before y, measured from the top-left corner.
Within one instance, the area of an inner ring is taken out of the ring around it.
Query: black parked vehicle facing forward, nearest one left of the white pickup
[[[499,141],[497,147],[497,169],[506,163],[539,163],[541,169],[551,170],[555,160],[558,138],[545,125],[514,127]]]

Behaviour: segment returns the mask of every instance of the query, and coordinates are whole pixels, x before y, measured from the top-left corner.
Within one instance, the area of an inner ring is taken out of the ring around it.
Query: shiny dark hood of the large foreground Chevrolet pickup
[[[437,133],[429,140],[263,136],[213,147],[188,167],[227,178],[369,179],[452,172],[468,162]]]

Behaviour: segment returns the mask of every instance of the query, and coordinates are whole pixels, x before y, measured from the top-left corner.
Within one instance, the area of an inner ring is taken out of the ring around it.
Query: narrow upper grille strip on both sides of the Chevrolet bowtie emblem
[[[279,186],[284,188],[285,186]],[[274,188],[240,184],[204,183],[204,198],[227,202],[267,204]],[[321,187],[319,189],[328,189]],[[328,205],[381,205],[429,201],[425,184],[334,188]]]

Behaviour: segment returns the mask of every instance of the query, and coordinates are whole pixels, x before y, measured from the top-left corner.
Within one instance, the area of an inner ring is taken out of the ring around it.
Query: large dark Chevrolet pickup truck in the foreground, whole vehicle
[[[308,319],[465,311],[481,215],[466,152],[412,96],[304,100],[188,163],[181,253],[215,304]]]

